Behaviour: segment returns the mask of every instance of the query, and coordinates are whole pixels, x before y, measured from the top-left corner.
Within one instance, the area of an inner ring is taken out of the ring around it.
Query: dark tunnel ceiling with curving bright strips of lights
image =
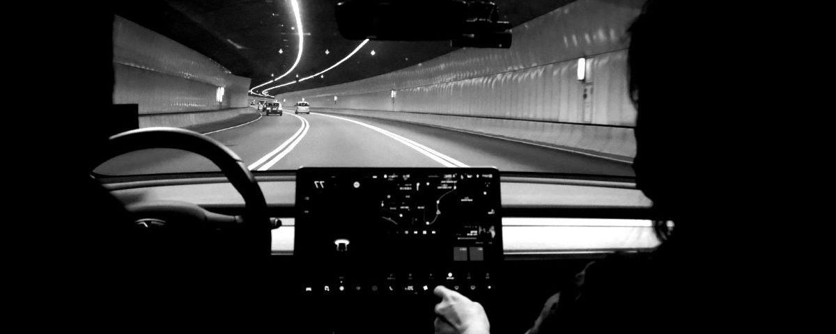
[[[526,22],[573,0],[495,0],[503,19]],[[342,38],[334,21],[335,0],[300,0],[304,45],[293,72],[263,88],[329,68],[361,41]],[[289,0],[125,0],[115,13],[215,59],[232,73],[252,78],[251,87],[293,66],[298,52],[295,18]],[[279,49],[282,53],[279,53]],[[449,42],[368,43],[339,67],[280,89],[282,94],[369,78],[449,53]],[[329,53],[326,54],[325,50]],[[375,55],[371,55],[375,50]],[[262,88],[262,89],[263,89]],[[259,89],[260,90],[260,89]],[[257,90],[258,91],[258,90]]]

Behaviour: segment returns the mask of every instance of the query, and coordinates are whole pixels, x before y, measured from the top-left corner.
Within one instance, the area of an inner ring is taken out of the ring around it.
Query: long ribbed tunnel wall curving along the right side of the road
[[[642,4],[579,0],[515,26],[509,49],[462,48],[392,73],[276,98],[630,160],[635,109],[625,32]],[[586,58],[584,80],[577,78],[579,58]]]

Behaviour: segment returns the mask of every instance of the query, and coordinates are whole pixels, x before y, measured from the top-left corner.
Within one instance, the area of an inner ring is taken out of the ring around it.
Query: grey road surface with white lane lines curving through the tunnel
[[[207,134],[227,145],[250,170],[301,166],[494,166],[501,171],[633,176],[630,164],[477,134],[338,114],[264,116]],[[196,154],[151,149],[99,166],[104,175],[217,171]]]

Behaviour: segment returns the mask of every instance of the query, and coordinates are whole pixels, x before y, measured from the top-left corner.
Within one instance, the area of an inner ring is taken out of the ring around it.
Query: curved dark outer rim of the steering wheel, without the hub
[[[100,164],[140,149],[181,149],[199,154],[212,161],[232,186],[242,195],[245,214],[241,231],[250,242],[242,243],[247,255],[268,255],[271,244],[271,224],[267,201],[252,172],[232,149],[203,134],[179,128],[152,127],[115,134],[97,154],[88,170]]]

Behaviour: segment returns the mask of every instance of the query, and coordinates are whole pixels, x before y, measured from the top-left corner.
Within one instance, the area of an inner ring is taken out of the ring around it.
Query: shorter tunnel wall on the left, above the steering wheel
[[[113,62],[114,104],[139,104],[140,127],[188,127],[254,112],[238,110],[248,105],[250,78],[118,16]]]

